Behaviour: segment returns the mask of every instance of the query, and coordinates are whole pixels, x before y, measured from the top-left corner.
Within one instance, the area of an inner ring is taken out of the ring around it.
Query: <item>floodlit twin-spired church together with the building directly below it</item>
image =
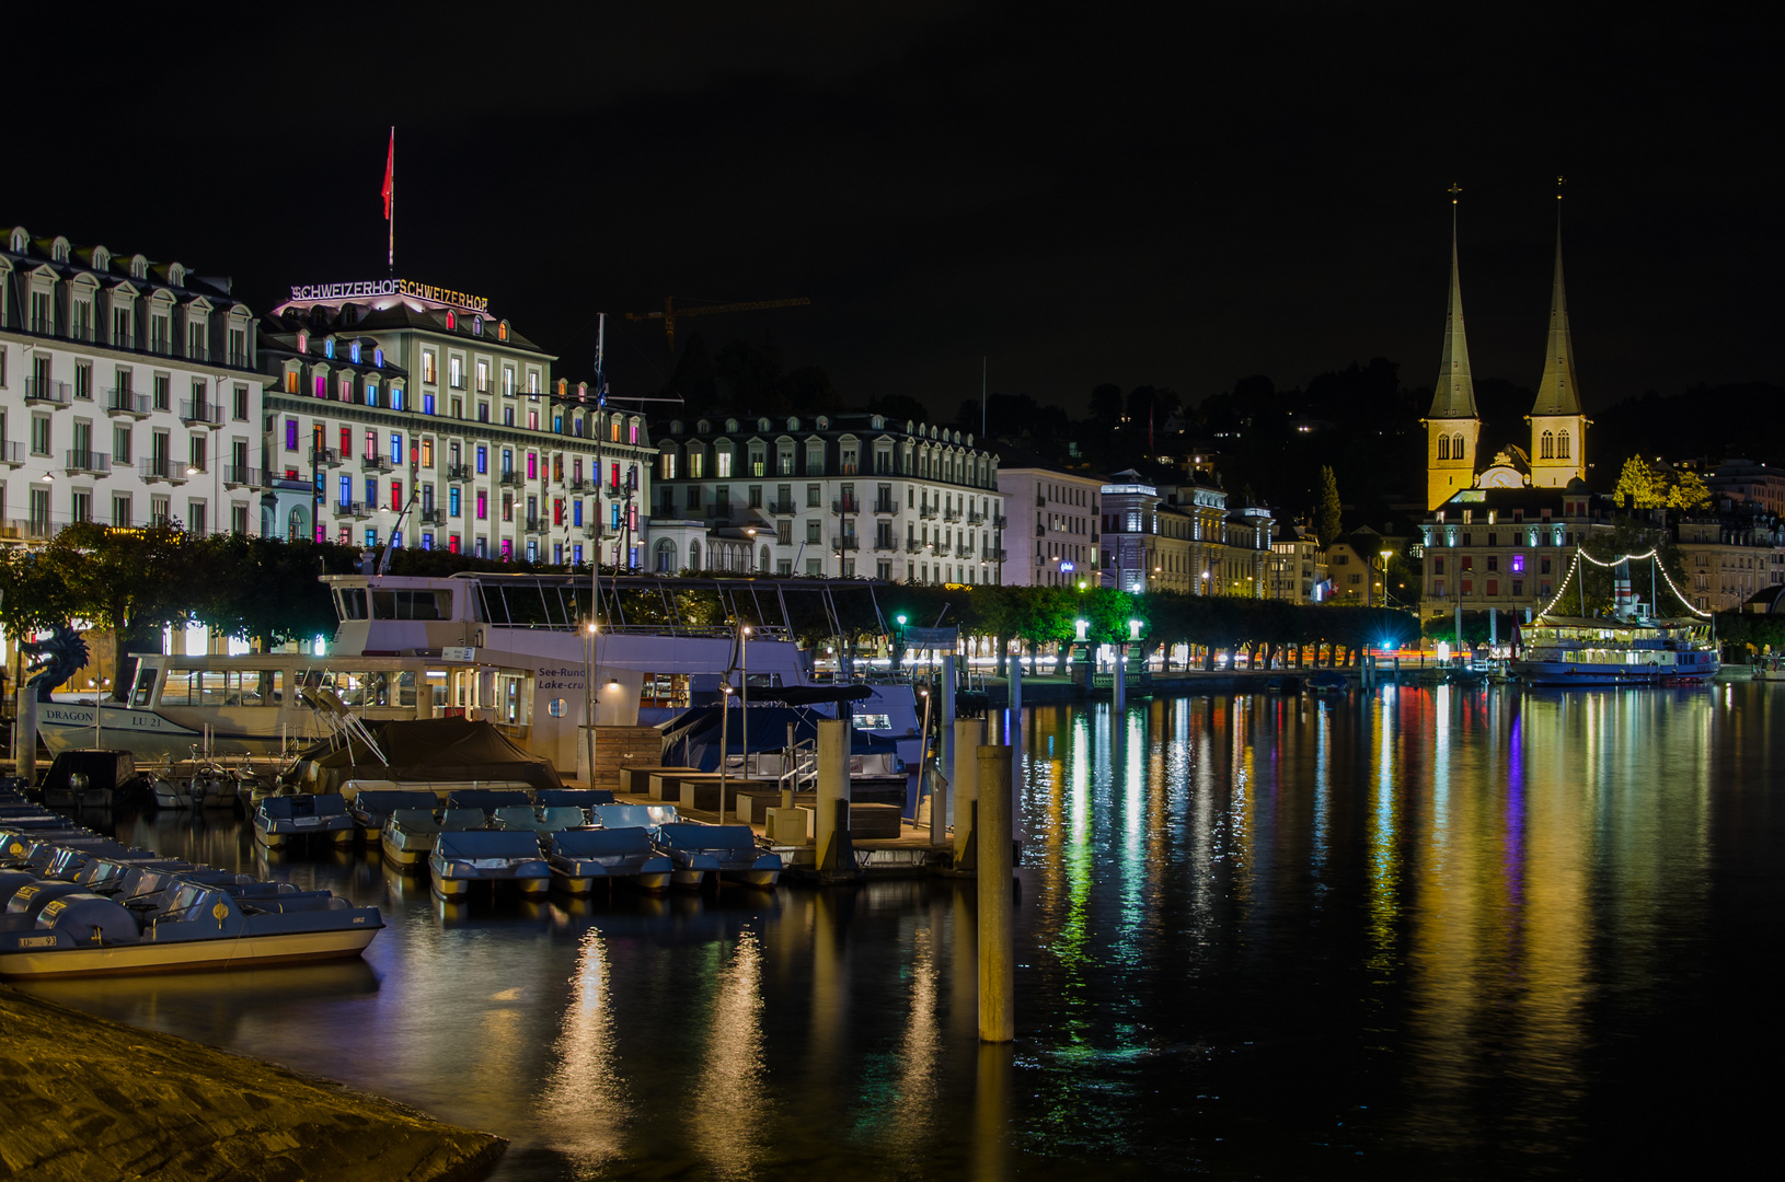
[[[1482,453],[1482,415],[1469,374],[1462,275],[1451,228],[1449,307],[1437,389],[1426,414],[1424,595],[1421,617],[1542,612],[1574,547],[1612,528],[1612,506],[1587,488],[1587,426],[1562,287],[1562,230],[1549,296],[1549,349],[1526,415],[1530,447]],[[1508,620],[1510,624],[1510,620]]]

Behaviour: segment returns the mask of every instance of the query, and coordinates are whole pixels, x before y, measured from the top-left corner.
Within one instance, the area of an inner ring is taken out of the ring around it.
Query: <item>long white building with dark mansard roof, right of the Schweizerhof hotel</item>
[[[1001,583],[998,456],[868,412],[712,415],[657,444],[653,570]],[[694,524],[698,522],[698,524]]]

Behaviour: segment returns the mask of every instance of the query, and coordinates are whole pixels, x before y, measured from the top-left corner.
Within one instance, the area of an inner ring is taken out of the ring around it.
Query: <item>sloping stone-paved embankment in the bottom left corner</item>
[[[500,1137],[0,986],[0,1177],[480,1177]]]

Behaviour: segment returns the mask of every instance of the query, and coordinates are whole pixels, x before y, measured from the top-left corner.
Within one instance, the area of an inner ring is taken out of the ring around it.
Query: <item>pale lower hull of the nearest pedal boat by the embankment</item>
[[[278,961],[321,961],[359,956],[377,927],[328,932],[286,932],[236,940],[120,945],[112,948],[45,948],[0,952],[0,977],[95,977],[109,973],[177,973],[202,968],[248,968]]]

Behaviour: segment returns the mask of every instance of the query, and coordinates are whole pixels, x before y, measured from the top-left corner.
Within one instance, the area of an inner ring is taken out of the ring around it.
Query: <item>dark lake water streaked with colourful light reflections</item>
[[[498,1178],[1614,1177],[1767,1145],[1785,690],[1035,708],[1017,1041],[950,882],[386,909],[364,963],[39,986],[502,1134]]]

